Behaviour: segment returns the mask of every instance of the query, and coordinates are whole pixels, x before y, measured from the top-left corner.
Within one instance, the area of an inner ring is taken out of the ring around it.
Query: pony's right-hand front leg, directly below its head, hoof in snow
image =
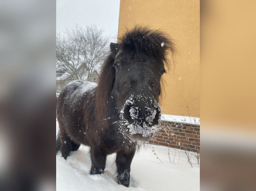
[[[117,166],[117,183],[129,187],[130,184],[130,171],[135,149],[129,153],[120,151],[116,155]]]

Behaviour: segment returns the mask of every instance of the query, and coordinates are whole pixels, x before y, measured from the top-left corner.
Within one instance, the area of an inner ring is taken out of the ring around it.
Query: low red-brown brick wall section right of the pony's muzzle
[[[200,125],[162,121],[160,129],[149,143],[194,152],[200,151]]]

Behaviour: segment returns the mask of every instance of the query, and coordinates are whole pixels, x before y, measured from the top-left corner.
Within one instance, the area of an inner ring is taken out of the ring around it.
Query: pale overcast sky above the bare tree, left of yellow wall
[[[57,0],[56,33],[79,24],[104,29],[110,42],[117,41],[120,0]]]

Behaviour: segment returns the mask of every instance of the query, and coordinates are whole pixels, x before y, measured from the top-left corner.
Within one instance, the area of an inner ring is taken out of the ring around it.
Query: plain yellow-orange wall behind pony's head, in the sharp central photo
[[[163,77],[162,113],[200,117],[200,1],[121,0],[118,37],[126,27],[146,25],[161,29],[176,42],[176,65]]]

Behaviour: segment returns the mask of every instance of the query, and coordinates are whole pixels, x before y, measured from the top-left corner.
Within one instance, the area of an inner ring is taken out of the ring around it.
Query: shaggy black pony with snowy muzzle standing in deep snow
[[[160,79],[176,49],[161,31],[136,26],[110,50],[97,87],[77,80],[59,94],[56,152],[67,159],[80,144],[90,146],[91,174],[104,173],[106,156],[116,152],[117,182],[128,187],[136,145],[157,130]]]

